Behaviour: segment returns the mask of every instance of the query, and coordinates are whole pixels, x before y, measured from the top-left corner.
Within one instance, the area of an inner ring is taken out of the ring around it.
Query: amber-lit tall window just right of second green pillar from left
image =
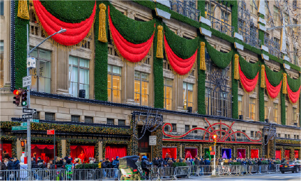
[[[121,103],[121,67],[107,65],[107,99]]]

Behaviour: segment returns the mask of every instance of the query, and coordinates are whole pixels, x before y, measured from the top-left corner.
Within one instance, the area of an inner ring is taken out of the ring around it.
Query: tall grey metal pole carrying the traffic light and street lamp
[[[28,24],[27,24],[27,57],[29,54],[29,33],[28,33]],[[29,67],[27,69],[27,76],[29,76]],[[31,108],[31,86],[27,86],[27,107]],[[27,167],[28,170],[31,170],[31,120],[27,119]]]

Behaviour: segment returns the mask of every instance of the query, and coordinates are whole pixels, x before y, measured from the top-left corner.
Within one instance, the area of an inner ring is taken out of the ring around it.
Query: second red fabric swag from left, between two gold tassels
[[[122,37],[122,35],[117,31],[114,24],[112,23],[110,16],[110,6],[107,7],[107,11],[109,14],[109,24],[112,38],[120,55],[122,55],[122,57],[130,62],[140,62],[141,60],[143,60],[143,58],[147,56],[147,53],[149,53],[150,48],[152,48],[154,33],[152,34],[152,37],[144,43],[130,43]]]

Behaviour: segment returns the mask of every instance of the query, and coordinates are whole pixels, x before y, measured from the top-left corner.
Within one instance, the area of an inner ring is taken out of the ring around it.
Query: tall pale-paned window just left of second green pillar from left
[[[89,99],[89,60],[69,56],[69,94],[78,97],[80,89],[85,89],[85,98]]]

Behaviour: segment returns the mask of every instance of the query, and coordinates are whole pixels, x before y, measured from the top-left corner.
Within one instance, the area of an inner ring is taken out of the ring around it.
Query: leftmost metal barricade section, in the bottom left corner
[[[35,170],[0,170],[0,180],[36,180]]]

